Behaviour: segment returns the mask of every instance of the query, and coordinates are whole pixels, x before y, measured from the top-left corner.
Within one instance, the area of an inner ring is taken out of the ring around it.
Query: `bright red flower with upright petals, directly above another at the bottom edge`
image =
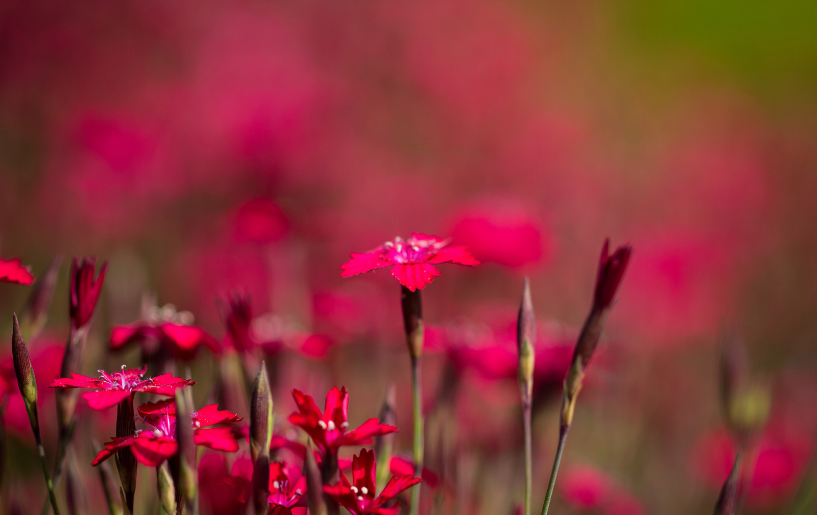
[[[366,445],[372,442],[372,437],[397,431],[394,426],[369,419],[359,428],[346,433],[346,428],[349,427],[349,422],[346,421],[349,394],[345,386],[340,390],[337,386],[329,390],[324,413],[320,412],[315,399],[300,390],[293,389],[292,397],[295,398],[299,412],[289,415],[289,421],[303,428],[324,454],[328,451],[337,452],[340,446]]]

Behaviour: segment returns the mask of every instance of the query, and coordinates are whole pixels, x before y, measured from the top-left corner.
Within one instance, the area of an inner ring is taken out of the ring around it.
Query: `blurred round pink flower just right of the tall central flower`
[[[467,207],[453,224],[453,239],[484,263],[512,269],[547,260],[551,242],[534,216],[518,202],[483,202]]]

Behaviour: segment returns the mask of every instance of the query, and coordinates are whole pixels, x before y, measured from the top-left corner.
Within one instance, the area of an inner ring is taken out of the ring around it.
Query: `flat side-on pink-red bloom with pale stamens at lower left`
[[[157,395],[167,395],[172,397],[176,394],[176,388],[182,388],[191,384],[196,384],[194,380],[173,377],[171,374],[157,375],[153,378],[145,379],[147,366],[142,368],[125,368],[122,371],[109,374],[105,371],[100,373],[99,379],[93,379],[86,375],[71,373],[71,377],[54,380],[52,388],[95,388],[96,392],[83,393],[83,399],[95,410],[105,410],[110,406],[116,406],[120,401],[136,392],[155,393]]]

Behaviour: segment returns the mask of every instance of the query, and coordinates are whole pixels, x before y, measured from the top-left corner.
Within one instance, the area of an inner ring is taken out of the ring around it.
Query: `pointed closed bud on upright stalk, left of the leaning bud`
[[[525,515],[530,515],[530,491],[533,476],[531,437],[531,405],[534,392],[536,315],[530,299],[530,282],[525,277],[519,316],[516,319],[516,348],[519,354],[518,375],[522,399],[522,424],[525,431]]]

